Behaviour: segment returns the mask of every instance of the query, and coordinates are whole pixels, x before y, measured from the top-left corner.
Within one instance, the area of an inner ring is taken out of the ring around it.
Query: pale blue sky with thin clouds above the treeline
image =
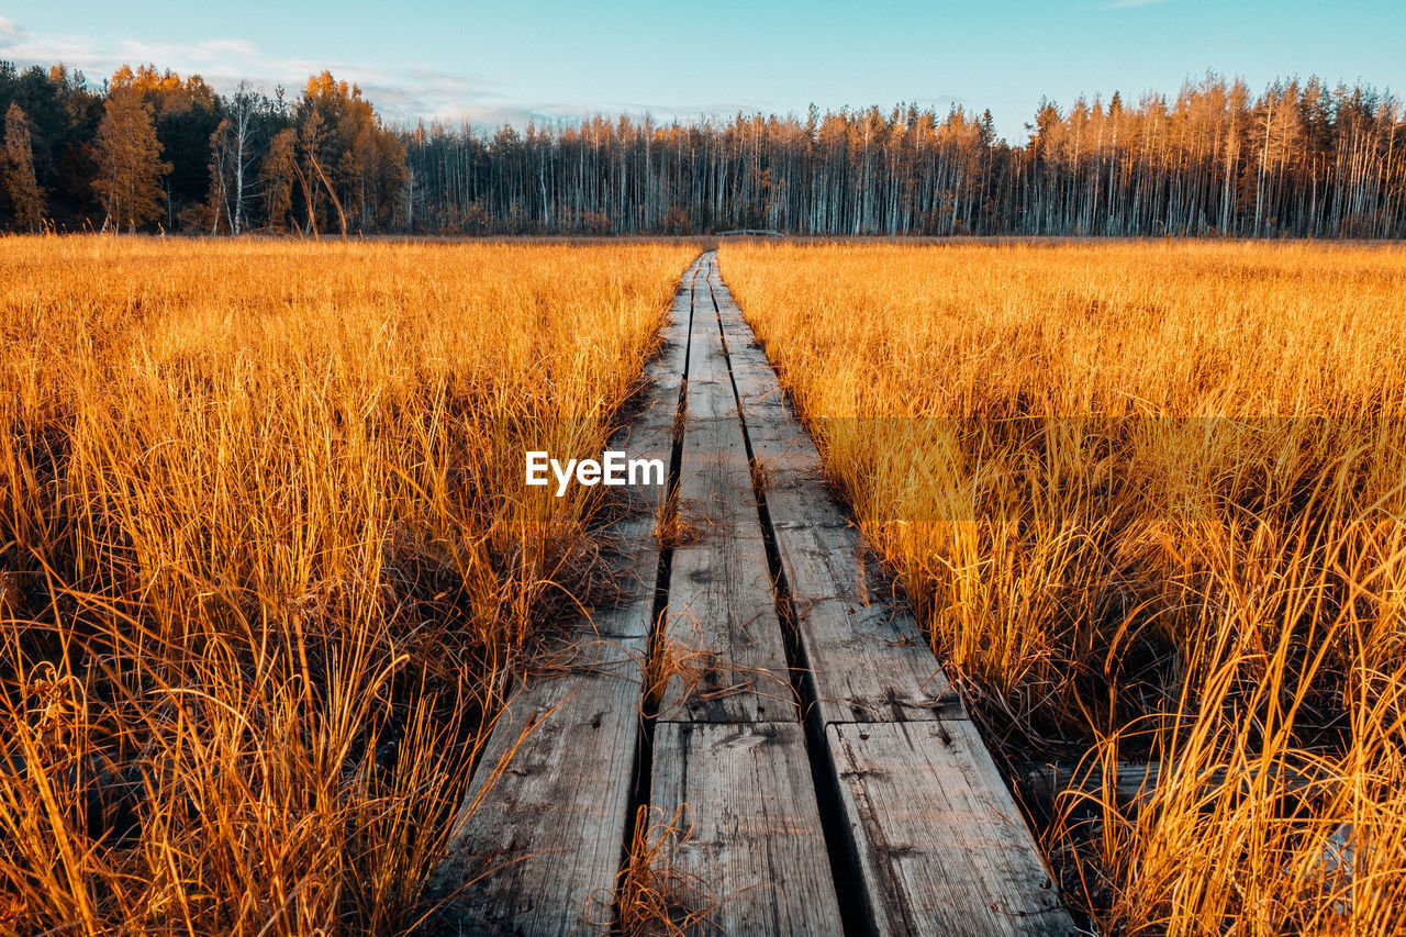
[[[953,101],[1024,136],[1040,97],[1174,94],[1206,69],[1254,91],[1310,73],[1406,87],[1406,1],[988,0],[478,3],[0,0],[0,58],[247,77],[323,68],[398,121],[524,124],[595,111],[695,118]]]

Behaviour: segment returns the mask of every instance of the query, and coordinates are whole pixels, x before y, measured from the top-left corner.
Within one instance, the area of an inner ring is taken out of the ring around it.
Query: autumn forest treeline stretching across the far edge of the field
[[[0,62],[0,227],[325,234],[1406,236],[1406,108],[1208,75],[1175,97],[990,111],[388,127],[323,72],[294,98]]]

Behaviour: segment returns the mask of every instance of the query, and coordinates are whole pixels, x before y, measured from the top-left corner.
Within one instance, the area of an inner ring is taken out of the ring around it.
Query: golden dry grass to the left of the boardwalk
[[[682,245],[0,242],[0,933],[399,933]]]

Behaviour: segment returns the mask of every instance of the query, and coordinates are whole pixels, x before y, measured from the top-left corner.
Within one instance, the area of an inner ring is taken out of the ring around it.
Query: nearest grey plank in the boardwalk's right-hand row
[[[970,722],[825,732],[875,933],[1076,933]]]

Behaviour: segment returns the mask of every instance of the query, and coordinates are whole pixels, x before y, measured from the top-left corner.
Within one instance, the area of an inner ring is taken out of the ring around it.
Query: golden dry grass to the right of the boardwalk
[[[1104,933],[1406,929],[1406,250],[721,264],[988,737],[1108,768],[1046,830],[1073,903]],[[1121,761],[1161,768],[1137,803]]]

